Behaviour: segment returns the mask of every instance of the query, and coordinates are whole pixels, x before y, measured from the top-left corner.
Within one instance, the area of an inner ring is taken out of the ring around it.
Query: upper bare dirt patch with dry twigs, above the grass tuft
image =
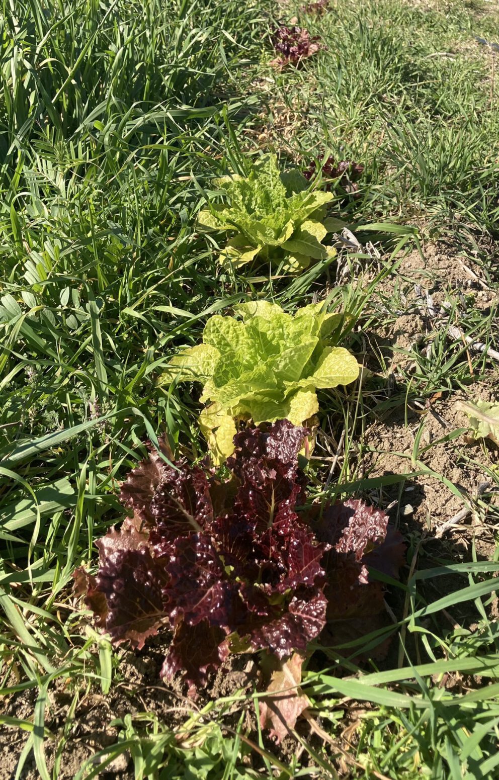
[[[401,383],[409,381],[419,357],[430,360],[432,344],[442,335],[459,349],[467,332],[477,342],[491,341],[493,349],[499,348],[497,284],[478,260],[444,242],[403,258],[375,291],[370,309],[375,324],[364,333],[366,365]],[[467,353],[464,359],[471,363],[480,350],[470,346]],[[499,362],[491,357],[487,366],[492,387],[499,379]],[[469,379],[475,379],[471,369]]]

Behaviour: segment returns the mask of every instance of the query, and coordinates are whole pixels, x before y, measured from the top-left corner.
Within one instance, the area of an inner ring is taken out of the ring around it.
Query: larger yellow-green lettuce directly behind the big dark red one
[[[253,301],[235,307],[240,317],[211,317],[203,343],[175,356],[161,383],[177,379],[203,383],[200,428],[215,463],[234,450],[241,421],[303,424],[317,414],[316,390],[349,385],[359,364],[334,344],[341,314],[312,303],[285,314],[275,303]]]

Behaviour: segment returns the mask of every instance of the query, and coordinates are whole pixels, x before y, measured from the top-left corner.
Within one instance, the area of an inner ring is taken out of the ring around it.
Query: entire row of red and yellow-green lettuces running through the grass
[[[319,48],[296,27],[274,37],[281,66]],[[325,239],[344,223],[327,216],[333,195],[319,182],[313,168],[281,172],[274,154],[263,155],[247,176],[214,182],[198,229],[216,236],[219,261],[235,275],[250,264],[276,275],[328,264],[335,250]],[[309,704],[299,684],[312,642],[337,646],[368,629],[383,646],[391,633],[383,577],[370,570],[396,577],[404,560],[384,512],[310,491],[317,390],[359,377],[356,357],[338,345],[345,317],[324,302],[289,314],[269,300],[211,317],[202,342],[174,356],[160,380],[203,385],[206,459],[175,459],[165,439],[159,450],[149,445],[122,484],[129,516],[97,542],[97,573],[75,572],[113,643],[140,650],[171,632],[161,677],[182,675],[190,696],[230,656],[254,654],[260,723],[277,739]]]

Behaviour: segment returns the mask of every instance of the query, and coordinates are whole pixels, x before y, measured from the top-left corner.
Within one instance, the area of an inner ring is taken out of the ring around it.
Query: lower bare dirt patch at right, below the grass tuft
[[[496,395],[481,388],[473,395],[473,399],[477,398],[495,400]],[[419,532],[423,529],[434,533],[463,507],[474,505],[484,484],[489,484],[489,492],[499,488],[499,479],[494,486],[487,471],[487,466],[489,470],[494,467],[497,452],[470,441],[466,433],[454,438],[455,431],[468,427],[465,415],[455,409],[458,399],[467,397],[462,392],[456,393],[452,399],[430,403],[423,409],[411,408],[409,400],[407,409],[400,406],[381,415],[366,431],[363,441],[366,477],[417,471],[418,462],[423,464],[423,470],[434,473],[410,478],[400,497],[397,488],[385,489],[388,501],[397,499],[393,514],[398,523],[406,524],[409,530],[417,527]],[[466,522],[475,523],[478,530],[482,524],[480,512],[470,512]],[[486,527],[483,533],[488,536]]]

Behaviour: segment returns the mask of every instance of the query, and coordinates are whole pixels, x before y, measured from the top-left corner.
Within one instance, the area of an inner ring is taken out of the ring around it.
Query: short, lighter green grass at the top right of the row
[[[495,55],[475,41],[495,40],[489,6],[342,0],[302,17],[326,48],[311,77],[271,76],[303,118],[288,143],[305,158],[328,147],[366,165],[355,215],[497,230]]]

